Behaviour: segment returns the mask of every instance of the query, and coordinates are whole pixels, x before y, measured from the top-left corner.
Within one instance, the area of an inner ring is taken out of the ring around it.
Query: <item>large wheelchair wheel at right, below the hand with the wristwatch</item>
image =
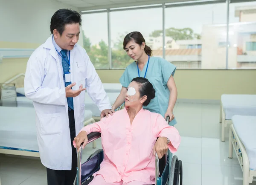
[[[169,185],[182,185],[182,162],[173,156],[169,173]]]

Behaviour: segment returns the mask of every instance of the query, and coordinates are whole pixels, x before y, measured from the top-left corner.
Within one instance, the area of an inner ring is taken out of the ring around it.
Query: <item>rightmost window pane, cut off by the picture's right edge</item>
[[[256,69],[256,2],[230,4],[228,68]]]

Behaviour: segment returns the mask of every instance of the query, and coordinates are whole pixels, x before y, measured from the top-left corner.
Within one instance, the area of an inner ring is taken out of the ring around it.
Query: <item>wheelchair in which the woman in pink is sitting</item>
[[[169,119],[167,118],[169,123]],[[88,142],[101,137],[101,133],[93,132],[87,135]],[[99,171],[100,164],[103,161],[103,150],[99,149],[87,159],[86,162],[81,164],[82,144],[78,151],[77,157],[77,173],[76,185],[88,185],[93,180],[93,173]],[[157,153],[155,155],[155,184],[154,185],[182,185],[182,161],[178,160],[177,156],[173,156],[168,152],[159,159]]]

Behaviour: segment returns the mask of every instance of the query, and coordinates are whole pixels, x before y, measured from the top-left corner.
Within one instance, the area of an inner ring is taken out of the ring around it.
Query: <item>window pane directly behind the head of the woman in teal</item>
[[[146,44],[152,46],[153,55],[163,56],[163,37],[160,35],[163,27],[162,11],[162,8],[152,8],[110,12],[113,69],[123,69],[133,62],[123,49],[123,40],[130,32],[141,32]],[[158,50],[161,52],[156,53]]]

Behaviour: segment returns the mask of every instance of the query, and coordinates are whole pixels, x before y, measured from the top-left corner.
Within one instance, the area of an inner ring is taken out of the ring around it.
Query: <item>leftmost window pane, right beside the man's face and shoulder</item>
[[[109,69],[108,14],[82,14],[84,49],[96,69]]]

